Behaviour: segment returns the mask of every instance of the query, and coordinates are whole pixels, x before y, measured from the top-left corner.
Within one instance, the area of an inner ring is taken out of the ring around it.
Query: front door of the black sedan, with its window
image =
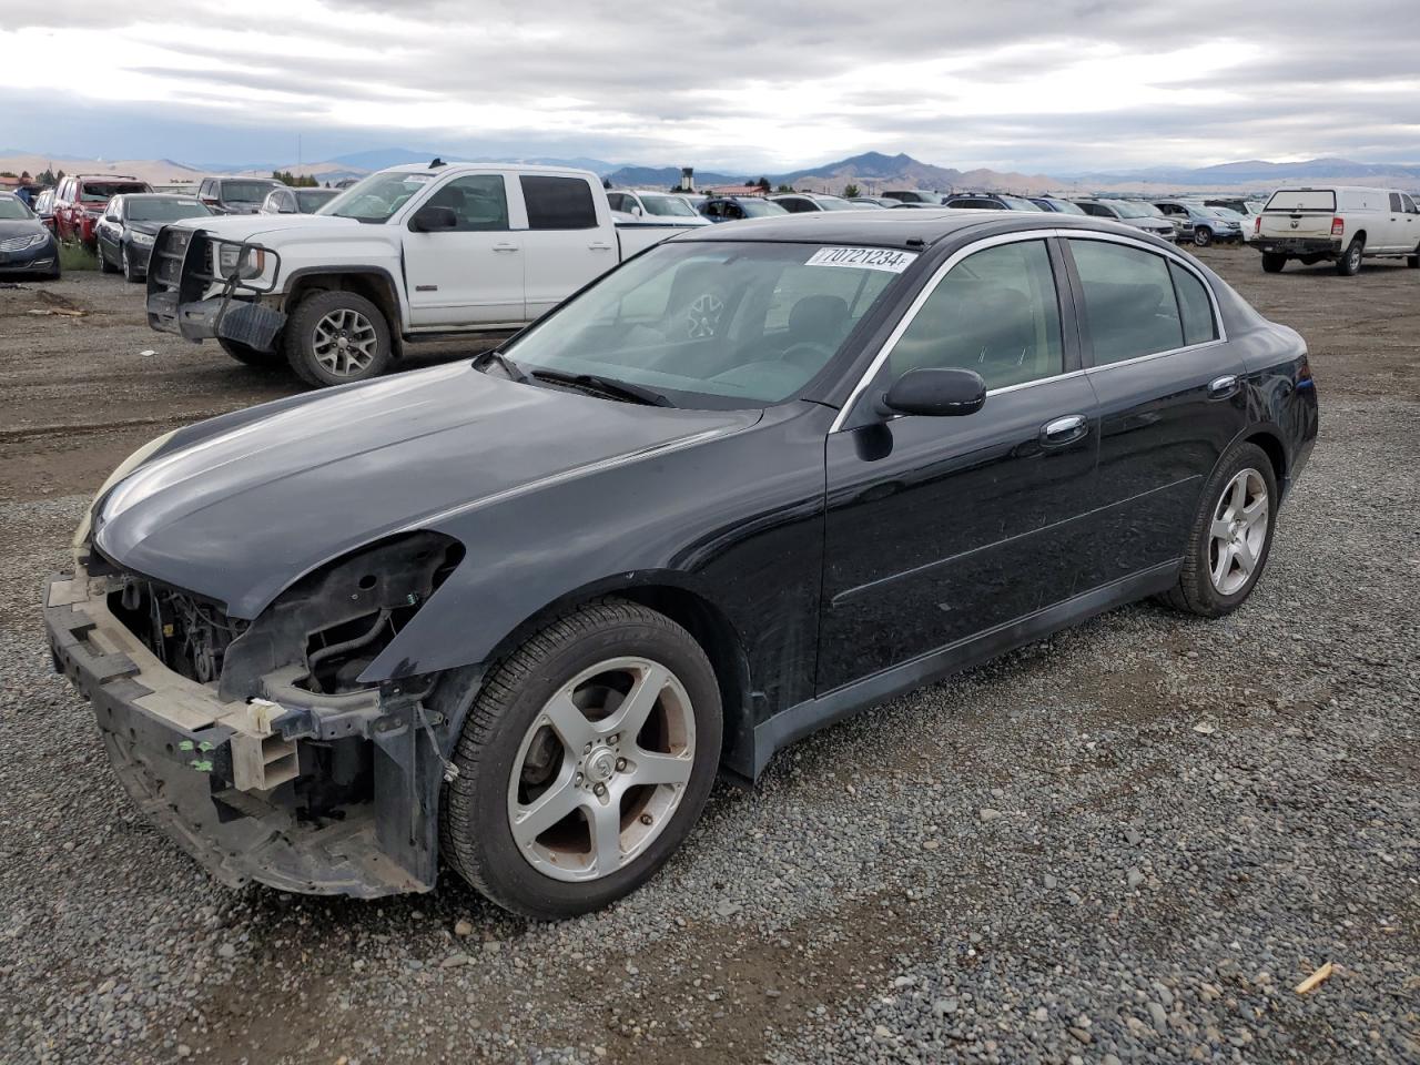
[[[958,366],[981,373],[985,406],[883,417],[859,399],[829,435],[819,693],[1072,595],[1099,433],[1062,277],[1039,234],[956,253],[863,395]]]

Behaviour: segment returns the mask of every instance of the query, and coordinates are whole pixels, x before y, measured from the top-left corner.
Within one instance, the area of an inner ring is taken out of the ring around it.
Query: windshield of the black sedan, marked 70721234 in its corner
[[[812,381],[914,258],[819,244],[660,244],[504,351],[534,376],[589,373],[676,406],[767,406]]]

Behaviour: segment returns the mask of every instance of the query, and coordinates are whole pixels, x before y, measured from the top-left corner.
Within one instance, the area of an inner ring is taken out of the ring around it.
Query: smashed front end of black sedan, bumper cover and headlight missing
[[[429,531],[388,538],[243,621],[125,571],[81,535],[74,572],[47,589],[54,665],[92,700],[145,814],[230,886],[433,888],[450,730],[476,684],[362,674],[463,545]]]

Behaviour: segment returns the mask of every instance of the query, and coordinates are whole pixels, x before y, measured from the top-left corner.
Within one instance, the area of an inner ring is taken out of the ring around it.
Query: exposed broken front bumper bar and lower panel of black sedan
[[[109,612],[116,586],[81,564],[51,577],[44,622],[54,669],[94,704],[114,771],[156,828],[230,888],[256,880],[375,897],[433,886],[432,848],[410,870],[408,853],[385,846],[378,804],[351,805],[338,818],[302,816],[297,784],[310,787],[320,772],[305,740],[287,738],[277,723],[263,730],[251,706],[222,701],[168,669]],[[287,714],[317,741],[352,728],[349,716],[331,714],[324,730],[318,709]],[[382,726],[390,747],[402,736],[413,743],[408,720],[385,717]]]

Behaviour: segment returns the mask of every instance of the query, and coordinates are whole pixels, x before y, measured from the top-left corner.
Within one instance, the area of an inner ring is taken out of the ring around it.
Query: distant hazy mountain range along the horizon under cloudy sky
[[[0,149],[0,170],[40,173],[53,165],[55,170],[64,169],[68,173],[124,173],[142,178],[153,185],[195,182],[209,173],[268,175],[271,170],[293,170],[295,173],[311,175],[322,183],[335,183],[346,178],[361,178],[386,166],[425,162],[435,155],[437,153],[429,151],[382,148],[301,165],[290,162],[182,163],[173,159],[126,159],[112,162]],[[680,182],[679,166],[625,165],[588,156],[528,156],[508,159],[507,156],[443,155],[442,158],[447,162],[525,162],[575,166],[605,176],[612,185],[622,187],[663,189]],[[701,187],[740,185],[743,182],[753,182],[761,176],[768,178],[774,186],[788,185],[794,189],[808,192],[841,193],[846,186],[856,185],[866,195],[893,187],[920,187],[941,192],[951,189],[984,189],[1024,195],[1056,192],[1065,195],[1140,193],[1156,196],[1173,192],[1264,192],[1284,182],[1379,185],[1420,190],[1420,165],[1366,163],[1336,158],[1281,163],[1264,159],[1245,159],[1201,168],[1154,166],[1135,170],[1027,175],[991,169],[958,170],[949,166],[924,163],[905,153],[885,155],[882,152],[863,152],[821,166],[788,170],[778,175],[747,170],[697,170],[696,185]]]

